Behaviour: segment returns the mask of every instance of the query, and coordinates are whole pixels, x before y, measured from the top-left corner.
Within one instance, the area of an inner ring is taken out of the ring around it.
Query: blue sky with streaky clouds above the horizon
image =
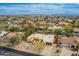
[[[78,3],[0,3],[0,15],[77,15]]]

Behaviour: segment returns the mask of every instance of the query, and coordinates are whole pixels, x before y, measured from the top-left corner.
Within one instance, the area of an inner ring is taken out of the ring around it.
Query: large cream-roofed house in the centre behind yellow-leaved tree
[[[54,35],[52,34],[32,34],[27,38],[27,41],[32,41],[33,39],[42,39],[45,43],[53,43]]]

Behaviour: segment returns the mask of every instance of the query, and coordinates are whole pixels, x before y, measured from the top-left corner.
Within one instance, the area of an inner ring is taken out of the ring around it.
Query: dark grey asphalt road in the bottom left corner
[[[2,56],[2,55],[4,55],[4,56],[39,56],[37,54],[18,51],[15,49],[0,46],[0,56]]]

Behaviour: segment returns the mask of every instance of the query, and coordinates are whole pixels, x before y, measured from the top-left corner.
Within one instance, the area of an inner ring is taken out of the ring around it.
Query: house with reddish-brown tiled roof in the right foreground
[[[59,41],[61,48],[75,48],[75,41],[79,41],[79,37],[68,37],[66,39],[60,39]]]

